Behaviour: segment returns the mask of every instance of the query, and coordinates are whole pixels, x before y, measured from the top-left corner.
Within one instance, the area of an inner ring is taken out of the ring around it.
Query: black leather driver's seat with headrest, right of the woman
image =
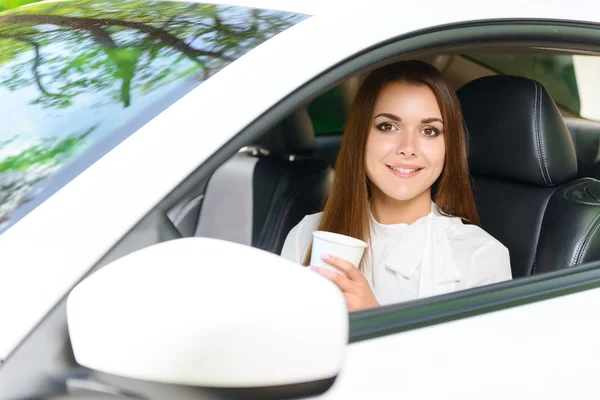
[[[457,94],[482,227],[508,247],[513,277],[600,259],[600,183],[575,179],[569,131],[544,87],[490,76]]]

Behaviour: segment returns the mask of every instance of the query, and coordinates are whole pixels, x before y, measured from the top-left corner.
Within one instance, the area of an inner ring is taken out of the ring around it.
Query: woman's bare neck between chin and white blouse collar
[[[431,191],[426,190],[410,200],[393,199],[378,189],[371,196],[371,213],[384,225],[412,224],[431,212]]]

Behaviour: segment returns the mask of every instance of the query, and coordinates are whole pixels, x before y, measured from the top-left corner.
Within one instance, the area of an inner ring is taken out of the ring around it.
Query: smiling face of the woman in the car
[[[365,165],[373,196],[431,199],[444,167],[442,113],[426,85],[393,82],[377,97],[367,138]]]

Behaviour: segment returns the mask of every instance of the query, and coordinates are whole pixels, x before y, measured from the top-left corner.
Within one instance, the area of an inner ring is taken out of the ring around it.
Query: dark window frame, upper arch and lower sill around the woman
[[[560,29],[548,29],[549,26],[560,27]],[[364,73],[366,70],[393,62],[398,58],[432,53],[437,49],[460,52],[467,46],[473,50],[478,47],[489,48],[491,44],[499,47],[543,45],[600,52],[600,24],[532,20],[481,21],[414,32],[366,49],[306,83],[257,118],[230,140],[220,152],[215,153],[185,179],[157,206],[157,209],[166,212],[175,204],[178,197],[192,190],[194,182],[206,176],[207,171],[214,170],[225,162],[237,151],[236,149],[243,147],[244,143],[259,138],[261,133],[277,122],[278,116],[293,112],[306,104],[307,100],[316,98],[357,73]],[[512,308],[599,286],[600,261],[428,299],[354,312],[350,313],[350,343]],[[473,301],[469,301],[470,299]],[[475,303],[476,301],[481,303]],[[447,306],[440,308],[442,304]]]

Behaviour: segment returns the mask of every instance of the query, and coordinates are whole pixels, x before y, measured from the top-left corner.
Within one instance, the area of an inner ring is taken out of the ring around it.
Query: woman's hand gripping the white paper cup
[[[348,311],[379,306],[369,282],[358,268],[346,260],[331,255],[324,255],[322,258],[327,264],[342,271],[345,276],[326,268],[311,267],[311,269],[335,283],[342,290],[346,298]]]

